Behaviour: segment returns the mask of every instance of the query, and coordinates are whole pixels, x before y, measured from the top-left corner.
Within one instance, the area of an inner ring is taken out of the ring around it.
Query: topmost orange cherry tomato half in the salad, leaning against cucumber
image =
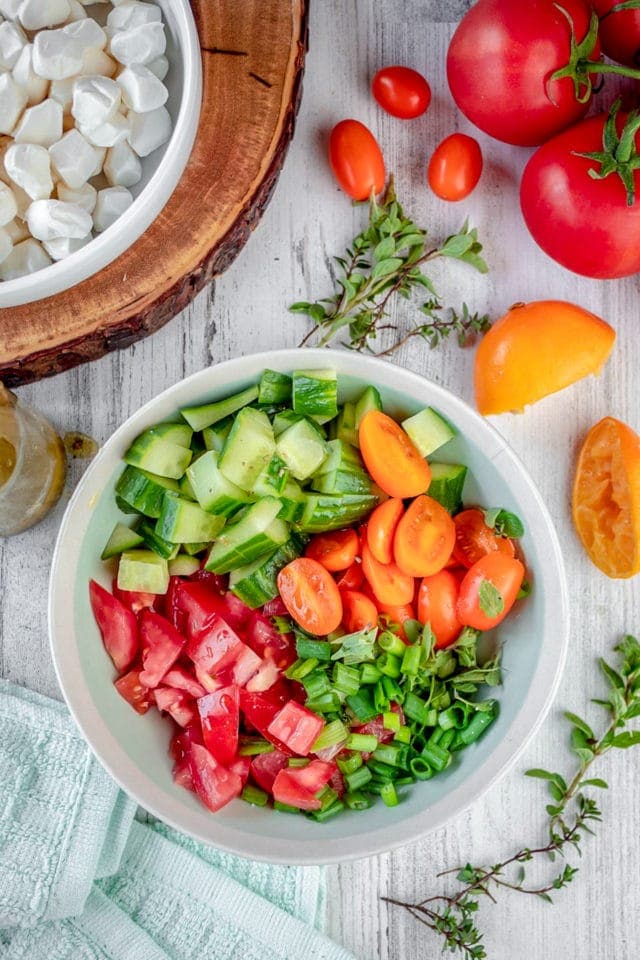
[[[358,428],[360,453],[373,480],[390,497],[416,497],[431,482],[429,464],[395,420],[370,410]]]

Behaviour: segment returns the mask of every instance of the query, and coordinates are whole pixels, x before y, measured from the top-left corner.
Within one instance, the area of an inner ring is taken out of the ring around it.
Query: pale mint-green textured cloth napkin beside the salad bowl
[[[321,868],[133,822],[66,709],[4,681],[0,784],[3,960],[352,960],[320,932]]]

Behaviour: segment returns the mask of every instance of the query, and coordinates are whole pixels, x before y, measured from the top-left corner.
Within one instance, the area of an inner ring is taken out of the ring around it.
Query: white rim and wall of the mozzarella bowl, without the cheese
[[[124,253],[155,220],[187,165],[202,100],[200,41],[189,0],[155,0],[162,7],[170,70],[166,107],[173,121],[170,140],[142,161],[142,179],[131,188],[134,202],[86,247],[64,260],[17,280],[0,282],[0,308],[32,303],[68,290]],[[99,8],[98,12],[99,12]]]

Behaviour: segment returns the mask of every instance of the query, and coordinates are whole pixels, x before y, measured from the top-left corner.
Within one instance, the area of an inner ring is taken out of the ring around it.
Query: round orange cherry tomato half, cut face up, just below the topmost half
[[[430,577],[442,570],[453,550],[456,528],[433,497],[416,497],[396,527],[393,554],[398,567],[412,577]]]

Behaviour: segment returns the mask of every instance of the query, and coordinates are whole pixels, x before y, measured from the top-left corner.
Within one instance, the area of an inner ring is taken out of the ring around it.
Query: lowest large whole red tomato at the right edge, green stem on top
[[[626,116],[618,115],[617,129]],[[600,114],[549,140],[533,154],[520,184],[531,236],[563,267],[608,280],[640,271],[640,169],[631,173],[635,201],[616,173],[594,180],[600,165],[580,156],[602,151],[607,116]],[[635,137],[640,149],[640,134]]]

